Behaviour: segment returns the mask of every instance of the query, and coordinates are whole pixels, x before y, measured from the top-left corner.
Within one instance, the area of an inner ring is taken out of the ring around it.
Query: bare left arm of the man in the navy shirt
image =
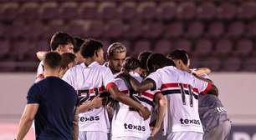
[[[38,103],[31,103],[26,105],[23,115],[18,124],[18,133],[16,135],[17,140],[23,140],[23,138],[28,133],[29,128],[31,128],[33,118],[38,112],[38,107]]]

